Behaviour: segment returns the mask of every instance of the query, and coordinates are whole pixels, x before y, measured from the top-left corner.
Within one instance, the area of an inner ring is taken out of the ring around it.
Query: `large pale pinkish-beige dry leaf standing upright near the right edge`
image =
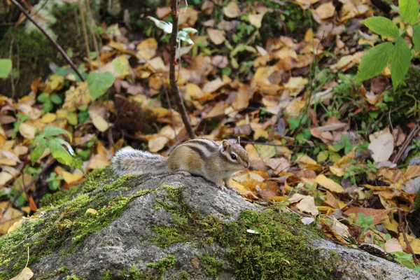
[[[389,128],[369,135],[369,150],[372,151],[372,158],[375,162],[388,160],[393,153],[393,136]]]

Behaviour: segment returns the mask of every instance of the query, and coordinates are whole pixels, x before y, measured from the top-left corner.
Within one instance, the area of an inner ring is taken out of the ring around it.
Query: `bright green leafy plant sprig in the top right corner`
[[[379,16],[362,21],[374,33],[391,37],[393,41],[375,45],[367,50],[360,61],[357,80],[363,81],[378,76],[389,65],[394,88],[403,82],[411,65],[412,51],[420,50],[420,25],[417,20],[419,2],[417,0],[399,0],[398,6],[399,8],[393,7],[394,10],[397,10],[402,20],[408,23],[402,31],[388,18]],[[406,38],[409,39],[407,31],[410,26],[412,27],[412,43],[414,43],[412,50],[405,41]]]

